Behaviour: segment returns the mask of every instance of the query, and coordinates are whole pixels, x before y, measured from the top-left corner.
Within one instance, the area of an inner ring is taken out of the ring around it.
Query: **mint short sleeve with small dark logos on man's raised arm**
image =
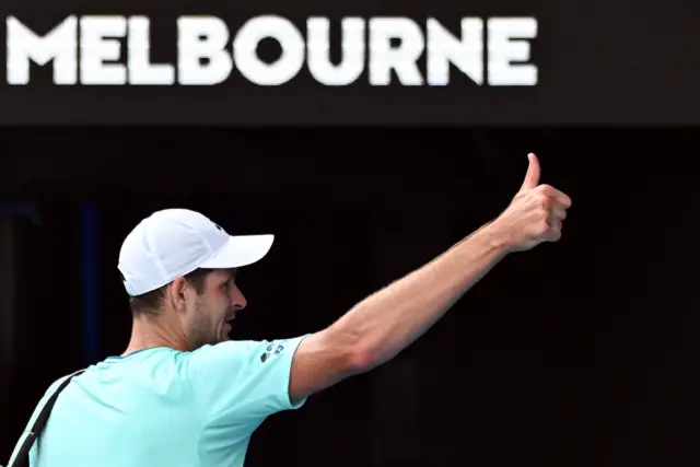
[[[228,341],[189,354],[187,375],[207,423],[237,424],[301,407],[292,405],[292,360],[306,336],[273,341]]]

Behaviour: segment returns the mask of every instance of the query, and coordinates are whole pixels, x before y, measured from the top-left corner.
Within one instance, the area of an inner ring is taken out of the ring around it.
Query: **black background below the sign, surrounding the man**
[[[534,151],[573,199],[562,241],[508,257],[395,360],[270,418],[247,465],[697,465],[697,130],[22,128],[0,141],[15,299],[0,457],[52,381],[124,351],[116,260],[149,212],[277,234],[242,273],[233,335],[298,336],[498,215]],[[38,223],[9,215],[32,206]]]

